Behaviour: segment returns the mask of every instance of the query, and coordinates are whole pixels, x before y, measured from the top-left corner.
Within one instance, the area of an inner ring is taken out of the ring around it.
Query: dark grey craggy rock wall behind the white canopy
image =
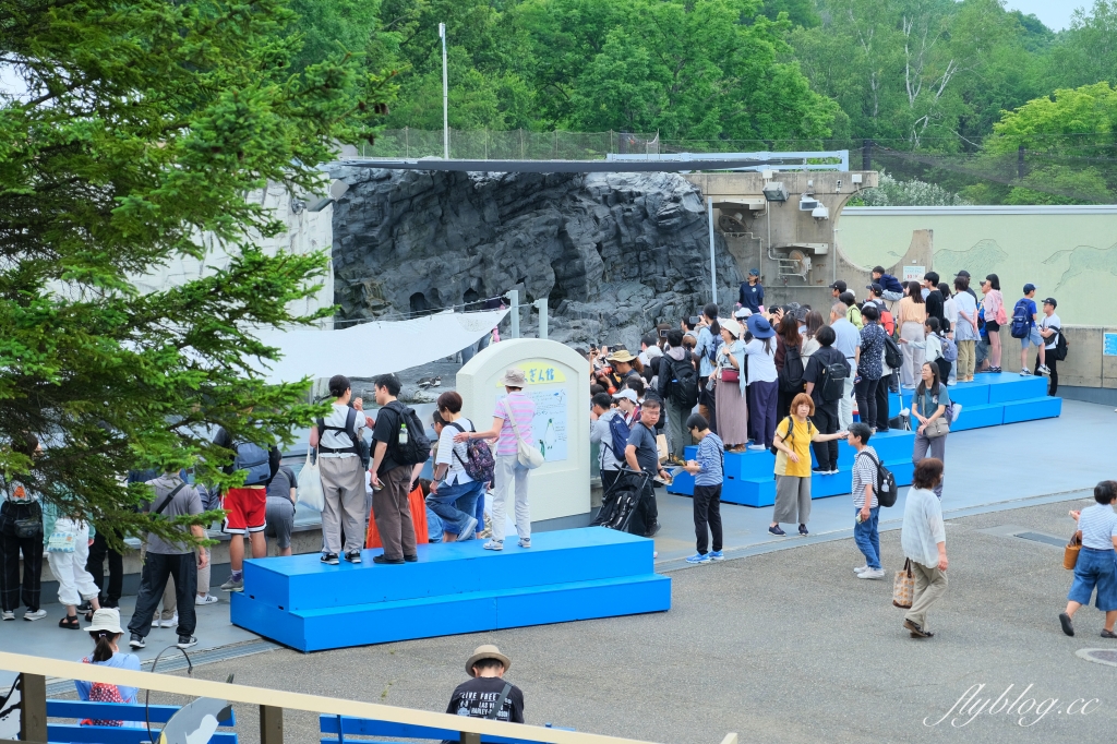
[[[674,173],[442,173],[334,166],[335,302],[380,317],[521,292],[548,298],[550,335],[639,346],[709,298],[700,192]],[[718,294],[736,265],[717,236]],[[533,332],[523,312],[522,331]]]

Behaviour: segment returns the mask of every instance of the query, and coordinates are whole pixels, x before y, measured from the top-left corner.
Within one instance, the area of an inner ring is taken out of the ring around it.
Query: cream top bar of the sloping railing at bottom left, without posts
[[[227,683],[210,681],[207,679],[171,677],[168,675],[152,674],[150,671],[116,669],[93,664],[45,659],[38,656],[9,654],[4,651],[0,651],[0,669],[8,669],[10,671],[27,675],[58,677],[63,679],[82,679],[86,681],[106,683],[109,685],[125,685],[128,687],[139,687],[141,689],[157,690],[160,693],[185,695],[188,697],[214,697],[232,703],[249,703],[270,706],[274,708],[293,708],[296,710],[309,710],[319,714],[327,713],[331,715],[354,716],[357,718],[392,721],[395,723],[413,724],[418,726],[450,728],[465,733],[506,736],[508,738],[541,742],[544,744],[649,744],[648,742],[633,738],[604,736],[601,734],[586,734],[584,732],[562,731],[560,728],[544,728],[543,726],[500,723],[497,721],[489,721],[487,718],[470,718],[448,713],[430,713],[428,710],[414,710],[411,708],[380,705],[376,703],[345,700],[334,697],[324,697],[321,695],[307,695],[305,693],[288,693],[285,690],[266,689],[262,687],[249,687],[247,685],[230,685]],[[731,734],[729,736],[735,737],[736,735]],[[726,737],[725,741],[728,742],[729,737]]]

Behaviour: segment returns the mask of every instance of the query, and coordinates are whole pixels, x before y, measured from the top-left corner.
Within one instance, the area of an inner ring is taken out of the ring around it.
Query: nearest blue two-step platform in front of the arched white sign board
[[[300,651],[662,612],[671,580],[652,541],[604,527],[532,535],[532,547],[483,541],[419,545],[419,561],[326,565],[318,554],[245,561],[232,622]]]

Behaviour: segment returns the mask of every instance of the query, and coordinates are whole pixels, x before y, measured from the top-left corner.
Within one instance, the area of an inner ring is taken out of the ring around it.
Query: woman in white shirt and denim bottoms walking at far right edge
[[[1078,522],[1075,537],[1081,541],[1078,561],[1075,563],[1075,583],[1067,594],[1067,610],[1059,616],[1062,632],[1075,635],[1075,613],[1090,603],[1090,594],[1097,590],[1095,607],[1106,613],[1102,638],[1117,638],[1117,569],[1114,565],[1114,549],[1117,549],[1117,481],[1102,480],[1094,487],[1094,506],[1081,512],[1071,511],[1070,516]]]

